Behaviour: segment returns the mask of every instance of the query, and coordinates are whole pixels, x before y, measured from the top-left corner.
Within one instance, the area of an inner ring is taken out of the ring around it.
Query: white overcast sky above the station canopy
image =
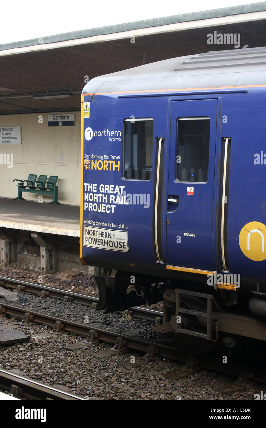
[[[2,0],[0,44],[248,3],[237,0]]]

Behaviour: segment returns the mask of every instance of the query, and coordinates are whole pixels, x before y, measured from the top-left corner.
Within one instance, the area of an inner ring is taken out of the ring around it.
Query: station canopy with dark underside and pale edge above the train
[[[79,110],[88,79],[143,62],[266,46],[265,28],[260,2],[0,45],[0,114]],[[236,46],[219,45],[218,34],[236,35]]]

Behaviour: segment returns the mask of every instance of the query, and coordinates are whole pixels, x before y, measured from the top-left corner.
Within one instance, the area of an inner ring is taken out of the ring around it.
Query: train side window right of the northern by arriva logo
[[[152,177],[153,119],[125,119],[123,126],[123,177]]]

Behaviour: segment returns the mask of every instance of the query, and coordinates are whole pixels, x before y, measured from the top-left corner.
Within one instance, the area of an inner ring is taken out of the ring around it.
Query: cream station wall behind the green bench
[[[21,126],[21,144],[0,144],[0,154],[13,153],[12,168],[0,164],[0,196],[15,198],[18,190],[14,178],[26,180],[29,173],[58,175],[58,202],[80,204],[80,113],[75,113],[75,126],[49,126],[48,114],[0,116],[1,126]],[[43,116],[43,123],[38,117]],[[0,158],[1,159],[1,158]],[[38,200],[37,193],[23,193],[23,198]],[[43,196],[50,202],[52,196]]]

